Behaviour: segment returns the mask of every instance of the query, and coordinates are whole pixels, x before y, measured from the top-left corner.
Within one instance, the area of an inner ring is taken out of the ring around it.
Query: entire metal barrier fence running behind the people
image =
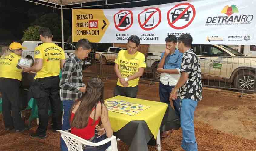
[[[31,52],[22,52],[22,56]],[[90,53],[84,60],[84,76],[117,78],[114,61],[118,53]],[[160,56],[145,55],[146,68],[140,79],[159,81],[157,72]],[[256,93],[256,57],[198,56],[202,83],[205,87],[232,89],[242,93]]]

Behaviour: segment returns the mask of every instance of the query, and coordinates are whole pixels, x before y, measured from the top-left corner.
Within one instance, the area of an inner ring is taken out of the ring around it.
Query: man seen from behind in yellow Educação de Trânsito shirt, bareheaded
[[[36,133],[31,133],[30,136],[45,138],[49,102],[52,108],[52,130],[60,130],[62,127],[59,72],[65,62],[65,53],[61,47],[52,43],[52,32],[48,27],[41,28],[39,34],[43,44],[35,48],[35,64],[31,68],[25,68],[24,71],[37,72],[30,91],[37,100],[39,126]]]

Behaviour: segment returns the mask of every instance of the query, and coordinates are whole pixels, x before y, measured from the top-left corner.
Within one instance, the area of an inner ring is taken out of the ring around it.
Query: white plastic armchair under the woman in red
[[[56,130],[61,133],[61,137],[68,147],[68,151],[83,151],[82,144],[89,146],[100,146],[111,141],[111,146],[106,151],[118,151],[116,137],[113,135],[111,138],[107,138],[98,143],[89,142],[88,140],[82,139],[74,134],[68,132],[68,130]]]

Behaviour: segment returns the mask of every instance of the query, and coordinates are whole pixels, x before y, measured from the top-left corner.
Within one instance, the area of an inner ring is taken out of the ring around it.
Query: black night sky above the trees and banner
[[[108,0],[108,3],[131,2],[134,0]],[[121,5],[108,5],[93,7],[97,8],[128,8],[148,5],[158,5],[171,2],[179,2],[182,0],[150,0],[146,2],[136,2]],[[87,5],[95,5],[97,2],[87,3]],[[105,4],[105,1],[98,2],[98,5]],[[85,5],[85,4],[84,4]],[[44,14],[57,13],[60,10],[47,7],[44,5],[35,5],[35,3],[24,0],[1,0],[0,1],[0,40],[20,40],[23,32],[35,19],[40,18]],[[63,11],[64,18],[71,23],[71,10]]]

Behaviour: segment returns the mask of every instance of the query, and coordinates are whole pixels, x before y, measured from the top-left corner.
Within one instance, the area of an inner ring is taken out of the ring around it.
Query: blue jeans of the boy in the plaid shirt
[[[73,100],[64,100],[62,102],[63,102],[64,114],[63,114],[63,123],[62,123],[61,130],[68,130],[71,128],[69,118],[70,118],[70,110],[71,110],[71,107],[72,107],[74,101]],[[68,147],[66,146],[62,137],[60,139],[61,139],[61,144],[60,144],[61,151],[68,151]]]

